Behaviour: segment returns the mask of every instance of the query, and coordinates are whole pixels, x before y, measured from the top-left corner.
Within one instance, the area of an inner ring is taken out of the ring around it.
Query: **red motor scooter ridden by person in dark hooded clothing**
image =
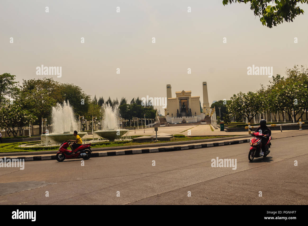
[[[267,130],[265,130],[267,131]],[[253,136],[253,138],[251,138],[250,141],[250,146],[251,148],[249,149],[249,154],[248,154],[248,159],[249,162],[252,162],[254,158],[259,158],[259,157],[263,157],[265,158],[269,153],[270,153],[270,145],[272,145],[270,143],[271,137],[270,139],[267,141],[266,145],[265,145],[265,152],[264,152],[264,156],[260,155],[260,151],[262,148],[262,139],[265,139],[266,137],[262,134],[262,133],[252,133],[251,136]]]

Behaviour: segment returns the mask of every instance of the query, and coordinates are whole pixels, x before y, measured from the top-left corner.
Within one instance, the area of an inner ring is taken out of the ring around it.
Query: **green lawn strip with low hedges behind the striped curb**
[[[107,147],[121,147],[121,146],[134,146],[134,145],[143,145],[143,144],[155,144],[155,143],[166,143],[166,142],[174,142],[174,141],[191,141],[191,140],[201,140],[201,139],[213,139],[219,137],[233,137],[239,135],[228,135],[228,136],[200,136],[200,137],[174,137],[170,141],[158,141],[158,142],[133,142],[133,141],[115,141],[115,142],[100,142],[94,143],[91,145],[91,148],[107,148]],[[35,151],[52,151],[58,150],[59,146],[56,147],[28,147],[21,148],[19,145],[35,143],[32,142],[20,142],[20,143],[5,143],[0,144],[0,153],[9,153],[9,152],[35,152]]]

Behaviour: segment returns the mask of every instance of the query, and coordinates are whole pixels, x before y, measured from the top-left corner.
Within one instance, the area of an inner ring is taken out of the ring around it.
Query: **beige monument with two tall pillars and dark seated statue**
[[[204,85],[205,84],[205,85]],[[200,102],[200,96],[192,96],[192,92],[182,90],[175,92],[175,97],[172,97],[171,85],[167,88],[167,107],[165,108],[165,118],[169,123],[181,123],[183,119],[186,122],[198,122],[205,118],[209,112],[209,98],[206,82],[203,85],[203,105]],[[200,109],[202,107],[202,111]]]

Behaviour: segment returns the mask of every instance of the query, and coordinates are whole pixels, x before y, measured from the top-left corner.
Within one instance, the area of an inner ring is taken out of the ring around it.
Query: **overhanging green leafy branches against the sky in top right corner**
[[[299,5],[308,4],[308,0],[223,0],[222,4],[235,2],[250,3],[254,15],[260,17],[262,24],[269,28],[283,22],[293,22],[296,16],[304,14]]]

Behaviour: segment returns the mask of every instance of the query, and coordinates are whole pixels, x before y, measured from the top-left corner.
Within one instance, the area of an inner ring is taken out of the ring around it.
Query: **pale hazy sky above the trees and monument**
[[[249,5],[222,0],[1,0],[0,73],[22,81],[43,77],[36,75],[42,64],[61,66],[62,77],[45,77],[105,100],[165,97],[171,84],[173,97],[191,90],[201,104],[207,81],[211,104],[268,84],[266,75],[247,75],[249,66],[272,66],[274,75],[307,66],[308,7],[301,7],[305,13],[294,22],[269,29]]]

